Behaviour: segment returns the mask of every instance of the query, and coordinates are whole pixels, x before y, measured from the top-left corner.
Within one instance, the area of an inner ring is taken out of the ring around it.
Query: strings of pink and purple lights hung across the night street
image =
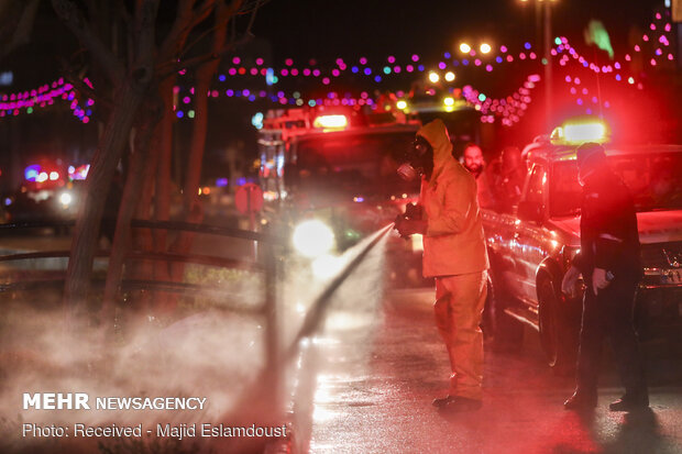
[[[652,67],[656,67],[662,63],[674,60],[675,57],[672,53],[664,52],[666,47],[670,47],[670,37],[668,35],[668,33],[672,31],[670,22],[668,22],[663,18],[663,15],[657,13],[656,20],[650,23],[649,29],[650,30],[646,34],[642,34],[640,43],[634,45],[634,52],[644,53],[645,51],[648,52],[650,49],[652,52],[652,55],[651,57],[648,57],[648,62]],[[646,46],[644,45],[645,43],[647,44]],[[554,40],[554,44],[556,47],[551,49],[551,54],[553,58],[559,59],[558,63],[562,67],[568,67],[568,65],[573,62],[579,65],[578,67],[581,70],[587,69],[594,74],[610,74],[610,76],[614,77],[616,81],[634,85],[638,89],[644,88],[642,84],[636,80],[632,75],[623,74],[624,69],[622,67],[622,64],[617,60],[613,64],[602,65],[597,64],[596,62],[592,62],[583,55],[580,55],[579,52],[571,46],[568,38],[565,37],[557,37]],[[454,73],[448,69],[450,67],[458,67],[460,65],[470,66],[470,64],[472,64],[472,66],[476,68],[484,68],[487,73],[492,73],[496,67],[501,67],[494,65],[504,65],[505,63],[522,60],[526,65],[532,64],[534,62],[535,64],[540,64],[541,62],[538,60],[537,54],[531,49],[532,44],[530,42],[525,42],[522,46],[520,46],[516,52],[510,51],[509,46],[501,45],[498,47],[497,55],[490,55],[493,53],[493,47],[486,45],[485,47],[482,47],[480,49],[481,54],[486,55],[481,55],[480,58],[473,58],[472,60],[466,58],[452,58],[452,55],[450,53],[443,53],[442,55],[446,57],[446,60],[438,62],[437,64],[438,70],[444,71],[442,73],[442,76],[438,75],[433,70],[428,69],[427,66],[419,63],[420,56],[418,54],[410,55],[407,63],[402,63],[395,54],[392,54],[384,60],[377,60],[377,67],[370,66],[369,59],[364,56],[358,59],[353,59],[354,62],[358,62],[358,64],[351,66],[349,66],[343,58],[339,57],[336,59],[336,66],[333,68],[321,67],[315,59],[308,60],[307,66],[296,67],[295,62],[292,58],[285,59],[285,67],[274,68],[266,66],[266,62],[262,57],[257,57],[253,60],[255,62],[255,66],[248,67],[248,65],[244,66],[246,60],[245,58],[234,56],[231,58],[232,66],[226,68],[224,71],[217,75],[217,79],[218,82],[222,84],[228,82],[230,78],[265,78],[265,81],[268,85],[276,85],[278,82],[277,77],[292,78],[302,76],[319,78],[323,86],[332,86],[334,79],[343,77],[344,74],[363,76],[367,78],[367,81],[372,81],[374,84],[382,84],[386,78],[395,77],[396,75],[400,75],[402,73],[411,74],[414,71],[427,71],[429,74],[429,78],[438,77],[440,79],[442,77],[442,79],[444,79],[446,81],[452,82],[454,80]],[[462,43],[462,45],[460,46],[460,51],[465,56],[476,56],[476,52],[465,43]],[[630,62],[630,54],[625,54],[624,59],[626,62]],[[252,59],[250,58],[249,60]],[[388,65],[386,65],[385,63],[381,64],[381,62],[387,62]],[[183,69],[178,73],[180,75],[184,75],[186,74],[186,70]],[[571,76],[566,76],[566,81],[569,81],[568,78],[571,78],[571,81],[574,85],[580,84],[579,77],[572,78]],[[573,90],[573,87],[571,87],[570,90],[572,93],[573,91],[578,93],[578,90]],[[194,95],[194,89],[190,89],[189,91]],[[177,91],[175,92],[176,95],[179,93],[179,89],[177,89]],[[218,98],[221,93],[223,93],[222,90],[211,90],[208,95],[209,97]],[[283,93],[282,96],[274,97],[272,95],[266,95],[266,92],[263,90],[251,92],[249,89],[244,89],[242,91],[227,89],[224,90],[224,95],[234,98],[245,98],[250,101],[270,98],[274,102],[278,102],[280,104],[295,106],[301,106],[305,103],[308,103],[309,106],[311,103],[315,103],[317,106],[324,104],[328,101],[328,99],[323,98],[305,99],[300,96],[300,93],[298,95],[298,97],[285,97]],[[278,95],[280,95],[280,92]],[[183,104],[187,104],[188,107],[189,104],[191,104],[191,99],[189,96],[184,96],[179,99],[182,100]],[[34,108],[52,106],[55,100],[64,100],[69,102],[69,107],[72,108],[74,115],[78,117],[84,123],[87,123],[89,121],[89,118],[92,113],[91,107],[94,104],[94,101],[91,99],[86,99],[86,106],[82,107],[82,100],[79,99],[78,91],[75,90],[72,85],[64,84],[63,79],[42,86],[41,88],[35,90],[0,96],[0,117],[18,115],[22,111],[24,111],[25,113],[32,113],[34,112]],[[349,104],[351,102],[360,104],[360,101],[363,101],[362,104],[371,104],[372,102],[372,100],[367,97],[359,99],[342,97],[333,98],[329,101],[332,103],[337,101],[339,103],[345,102]],[[484,106],[485,102],[488,102],[488,106]],[[497,102],[499,104],[501,101],[497,100]],[[483,113],[488,113],[493,107],[493,101],[491,101],[490,98],[486,98],[485,101],[479,100],[477,102],[474,102],[474,106],[477,106],[477,108]],[[191,117],[188,113],[185,114],[182,110],[178,109],[177,106],[175,106],[174,108],[178,118]],[[508,111],[509,109],[507,108],[506,110]],[[496,112],[495,115],[498,115],[497,111],[499,111],[499,109],[495,109],[494,111]],[[502,112],[505,112],[505,109],[502,109]],[[504,115],[503,113],[503,118],[509,120],[512,123],[514,122],[513,117],[514,115]]]

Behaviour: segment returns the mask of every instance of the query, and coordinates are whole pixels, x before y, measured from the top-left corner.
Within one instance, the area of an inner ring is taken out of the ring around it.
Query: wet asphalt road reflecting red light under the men
[[[521,352],[486,351],[483,409],[439,413],[431,400],[447,394],[449,365],[431,299],[431,291],[392,292],[378,318],[330,331],[317,343],[319,373],[310,416],[299,421],[299,451],[682,453],[680,356],[660,344],[645,346],[650,412],[608,411],[620,396],[608,355],[597,409],[563,410],[573,379],[543,364],[537,333],[528,329]]]

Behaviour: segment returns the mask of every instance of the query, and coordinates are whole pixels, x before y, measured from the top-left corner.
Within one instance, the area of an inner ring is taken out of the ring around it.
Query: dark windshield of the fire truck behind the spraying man
[[[304,139],[297,168],[304,189],[387,196],[418,191],[396,173],[414,132],[337,134]]]

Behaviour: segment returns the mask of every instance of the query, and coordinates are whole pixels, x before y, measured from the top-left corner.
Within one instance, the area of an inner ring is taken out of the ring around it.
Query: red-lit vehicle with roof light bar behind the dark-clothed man
[[[612,168],[630,189],[641,242],[645,279],[636,300],[642,339],[680,340],[682,333],[682,145],[605,144]],[[512,213],[483,209],[491,287],[498,324],[512,320],[539,332],[548,363],[572,367],[582,292],[569,298],[561,280],[580,251],[575,144],[537,141],[525,152],[528,173]],[[583,286],[584,289],[584,286]]]

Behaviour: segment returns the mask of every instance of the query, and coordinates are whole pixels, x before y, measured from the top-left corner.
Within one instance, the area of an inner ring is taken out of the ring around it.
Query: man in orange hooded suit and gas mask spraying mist
[[[424,218],[398,219],[402,235],[424,235],[424,276],[436,278],[436,325],[452,374],[448,396],[433,405],[448,411],[477,410],[482,401],[483,333],[479,325],[487,291],[488,259],[474,177],[452,157],[441,120],[417,132],[408,164],[398,173],[421,176]]]

